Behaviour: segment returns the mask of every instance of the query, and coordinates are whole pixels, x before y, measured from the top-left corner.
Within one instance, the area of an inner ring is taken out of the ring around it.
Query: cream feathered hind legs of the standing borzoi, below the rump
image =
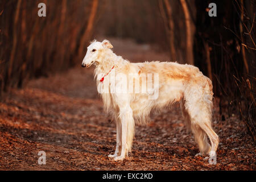
[[[212,121],[212,96],[205,94],[200,87],[190,88],[185,97],[185,107],[191,118],[191,130],[195,135],[196,143],[199,146],[198,155],[216,155],[218,147],[218,135],[213,131]],[[211,147],[207,141],[210,139]]]

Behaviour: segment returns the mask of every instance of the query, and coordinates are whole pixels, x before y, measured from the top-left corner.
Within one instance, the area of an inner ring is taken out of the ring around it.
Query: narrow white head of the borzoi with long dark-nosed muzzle
[[[102,42],[93,40],[90,46],[87,47],[86,55],[84,60],[82,60],[82,67],[88,68],[93,63],[100,63],[102,51],[110,48],[113,48],[113,46],[110,44],[109,40],[103,40]]]

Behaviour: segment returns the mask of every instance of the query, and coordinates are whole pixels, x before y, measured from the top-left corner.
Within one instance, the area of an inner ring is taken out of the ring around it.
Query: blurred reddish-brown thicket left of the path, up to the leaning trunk
[[[47,5],[39,18],[38,4]],[[98,1],[1,1],[1,90],[65,71],[81,60]]]

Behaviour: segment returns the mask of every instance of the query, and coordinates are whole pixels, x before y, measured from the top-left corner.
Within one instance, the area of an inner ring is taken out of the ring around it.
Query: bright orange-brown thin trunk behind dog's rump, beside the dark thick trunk
[[[185,0],[180,0],[181,6],[183,8],[184,16],[185,16],[185,25],[186,25],[186,62],[188,64],[194,64],[193,59],[193,38],[192,38],[192,27],[191,27],[191,15],[189,14],[188,5]]]

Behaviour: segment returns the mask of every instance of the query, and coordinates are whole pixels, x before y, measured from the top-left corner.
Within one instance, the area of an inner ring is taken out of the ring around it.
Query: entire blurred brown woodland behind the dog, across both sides
[[[47,5],[39,18],[38,3]],[[208,5],[217,4],[217,17]],[[80,64],[93,38],[132,38],[194,64],[214,85],[222,113],[239,112],[255,140],[255,0],[0,2],[0,93]],[[167,60],[163,60],[167,61]]]

